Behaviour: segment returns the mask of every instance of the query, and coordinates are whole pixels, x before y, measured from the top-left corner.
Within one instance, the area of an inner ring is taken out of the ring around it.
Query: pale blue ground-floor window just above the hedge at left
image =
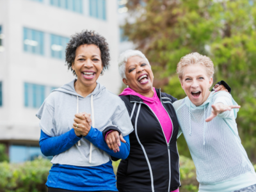
[[[26,146],[26,145],[11,145],[10,146],[10,163],[21,163],[24,161],[33,161],[38,157],[52,159],[52,157],[45,157],[40,147]]]

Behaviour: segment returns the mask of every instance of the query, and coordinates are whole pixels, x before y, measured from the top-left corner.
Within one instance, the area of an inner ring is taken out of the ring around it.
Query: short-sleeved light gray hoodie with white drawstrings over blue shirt
[[[40,128],[49,136],[60,136],[70,131],[76,113],[91,114],[92,127],[104,131],[107,127],[116,127],[123,136],[133,131],[129,114],[124,102],[115,94],[97,83],[95,90],[82,97],[74,88],[76,79],[61,88],[53,90],[42,104],[36,116],[40,118]],[[52,158],[53,164],[74,166],[98,166],[108,163],[109,155],[82,138],[65,152]]]

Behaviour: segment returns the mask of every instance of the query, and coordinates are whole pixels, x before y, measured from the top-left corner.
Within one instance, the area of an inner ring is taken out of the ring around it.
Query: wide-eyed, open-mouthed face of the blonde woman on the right
[[[195,106],[202,105],[210,95],[212,77],[207,76],[206,69],[201,64],[187,65],[183,70],[182,89]]]

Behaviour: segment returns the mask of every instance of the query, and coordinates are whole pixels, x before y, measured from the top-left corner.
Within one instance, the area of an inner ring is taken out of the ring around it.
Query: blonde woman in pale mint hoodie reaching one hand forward
[[[193,52],[177,65],[187,97],[173,103],[180,131],[196,166],[200,192],[256,191],[256,173],[241,144],[236,116],[240,106],[227,92],[210,92],[213,63]]]

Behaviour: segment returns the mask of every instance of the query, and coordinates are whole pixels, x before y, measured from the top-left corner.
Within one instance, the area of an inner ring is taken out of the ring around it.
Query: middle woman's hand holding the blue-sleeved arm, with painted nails
[[[119,132],[118,131],[109,132],[109,134],[107,135],[106,143],[108,144],[108,147],[111,150],[113,150],[115,153],[119,152],[119,147],[121,146],[121,142],[120,141],[122,141],[123,143],[126,143],[126,141],[124,140],[122,134],[120,134],[120,136],[119,136]]]

